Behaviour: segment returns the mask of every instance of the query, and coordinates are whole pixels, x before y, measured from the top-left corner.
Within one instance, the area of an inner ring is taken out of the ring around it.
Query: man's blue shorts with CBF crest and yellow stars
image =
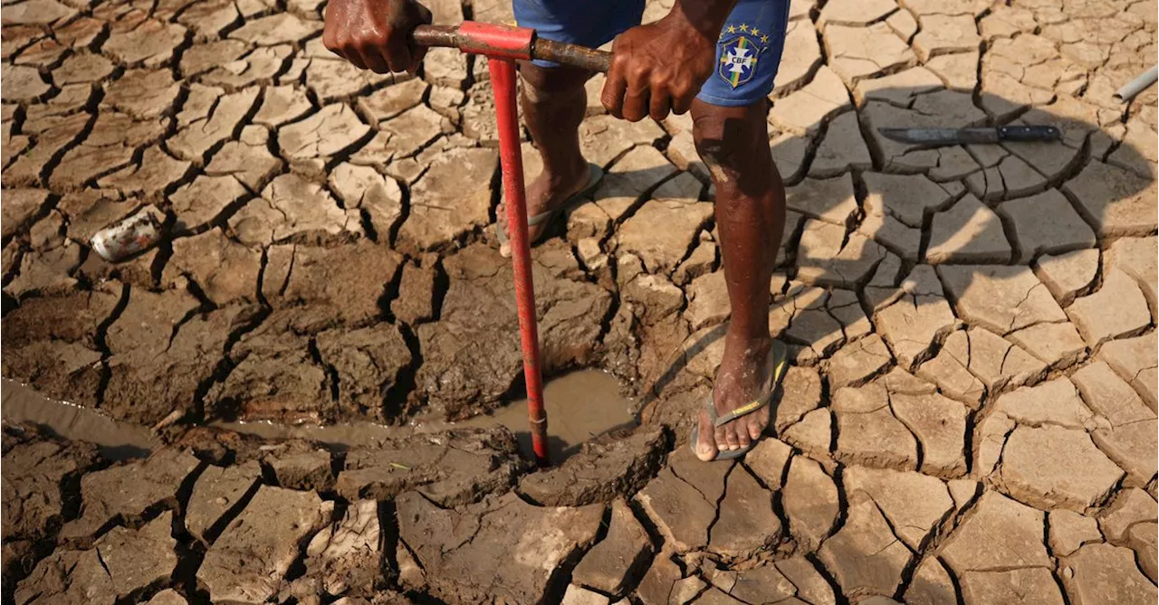
[[[591,47],[639,25],[644,12],[644,0],[512,0],[512,5],[519,27],[533,28],[546,39]],[[728,108],[767,97],[781,62],[788,19],[789,0],[737,0],[716,43],[716,69],[697,98]]]

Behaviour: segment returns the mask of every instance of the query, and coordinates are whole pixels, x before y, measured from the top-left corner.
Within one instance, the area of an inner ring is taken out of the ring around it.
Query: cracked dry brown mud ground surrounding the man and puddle
[[[0,6],[0,376],[174,422],[130,460],[3,425],[0,604],[1159,602],[1159,91],[1110,98],[1159,62],[1159,2],[792,3],[770,319],[794,360],[735,464],[685,447],[728,322],[691,121],[617,121],[592,80],[608,175],[534,251],[540,333],[551,374],[614,372],[641,426],[534,473],[505,429],[206,427],[519,390],[486,61],[359,72],[322,10]],[[876,132],[982,124],[1065,138]],[[89,251],[145,204],[160,246]]]

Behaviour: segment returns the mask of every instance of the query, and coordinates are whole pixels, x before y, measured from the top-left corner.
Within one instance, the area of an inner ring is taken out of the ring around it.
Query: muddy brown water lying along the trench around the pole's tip
[[[620,385],[599,370],[578,370],[556,377],[544,388],[549,450],[559,463],[580,445],[610,430],[635,423],[636,404],[620,394]],[[31,422],[58,435],[97,444],[110,458],[143,456],[160,444],[147,427],[110,419],[100,412],[44,397],[30,386],[0,378],[0,418]],[[306,438],[340,449],[373,445],[386,438],[455,427],[505,426],[515,433],[519,449],[532,457],[527,433],[526,400],[511,401],[488,415],[461,422],[417,418],[404,427],[373,423],[287,426],[272,422],[217,422],[214,426],[265,438]]]

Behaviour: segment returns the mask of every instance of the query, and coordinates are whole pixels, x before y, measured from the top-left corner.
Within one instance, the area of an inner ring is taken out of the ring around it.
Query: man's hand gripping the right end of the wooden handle
[[[608,113],[628,121],[644,116],[658,121],[669,111],[688,111],[713,73],[716,38],[734,3],[677,1],[664,19],[617,36],[612,68],[600,96]]]

